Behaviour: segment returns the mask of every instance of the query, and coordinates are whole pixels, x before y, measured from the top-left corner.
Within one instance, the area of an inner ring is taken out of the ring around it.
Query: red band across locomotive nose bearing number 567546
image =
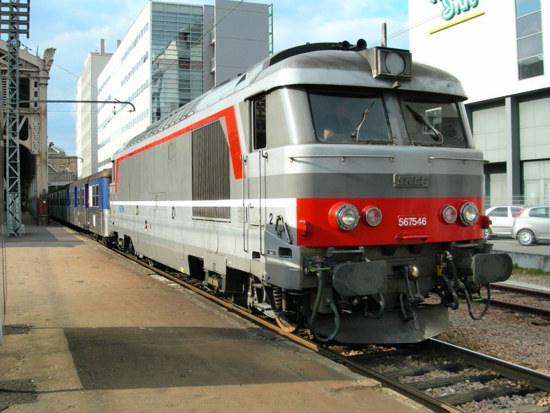
[[[464,226],[460,218],[447,224],[441,217],[446,205],[455,207],[460,215],[465,201],[474,202],[483,211],[481,197],[298,199],[296,222],[307,221],[309,233],[303,235],[298,231],[297,242],[300,246],[369,246],[478,240],[483,237],[479,220],[472,226]],[[377,207],[382,211],[382,222],[370,226],[362,217],[351,231],[335,229],[330,211],[339,202],[353,204],[360,213],[369,205]]]

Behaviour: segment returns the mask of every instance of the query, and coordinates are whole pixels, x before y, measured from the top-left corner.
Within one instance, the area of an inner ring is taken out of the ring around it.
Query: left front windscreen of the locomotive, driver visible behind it
[[[378,95],[310,92],[309,105],[320,142],[391,142],[384,101]]]

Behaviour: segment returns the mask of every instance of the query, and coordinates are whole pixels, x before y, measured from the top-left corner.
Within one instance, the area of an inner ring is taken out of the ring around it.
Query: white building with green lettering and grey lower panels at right
[[[413,59],[465,87],[487,199],[548,204],[550,2],[409,0],[409,22]]]

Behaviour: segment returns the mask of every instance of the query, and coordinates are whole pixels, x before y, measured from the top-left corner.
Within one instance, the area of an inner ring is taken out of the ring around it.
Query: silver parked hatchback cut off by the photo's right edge
[[[522,245],[533,245],[540,240],[550,240],[550,207],[525,207],[514,218],[511,236]]]

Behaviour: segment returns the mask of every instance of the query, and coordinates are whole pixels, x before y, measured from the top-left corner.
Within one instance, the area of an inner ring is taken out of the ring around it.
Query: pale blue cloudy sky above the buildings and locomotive
[[[54,47],[48,99],[74,100],[78,77],[89,52],[98,52],[105,39],[105,52],[115,49],[148,0],[30,0],[30,36],[20,36],[23,46],[42,56]],[[173,0],[170,0],[173,1]],[[213,0],[181,0],[208,4]],[[307,42],[352,44],[365,39],[380,45],[382,23],[387,25],[388,47],[408,48],[408,0],[255,0],[273,5],[274,51]],[[7,35],[2,35],[6,40]],[[49,103],[49,142],[75,153],[74,104]],[[110,110],[106,108],[105,110]]]

